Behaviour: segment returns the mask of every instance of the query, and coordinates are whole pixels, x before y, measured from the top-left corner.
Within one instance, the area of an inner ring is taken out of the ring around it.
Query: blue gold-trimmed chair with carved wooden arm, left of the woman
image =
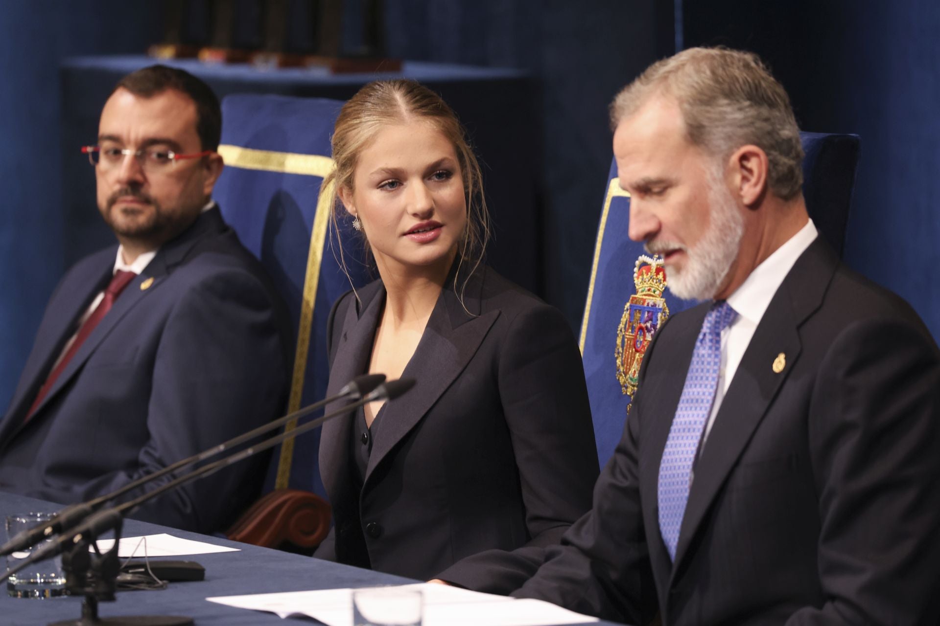
[[[219,152],[226,167],[214,197],[290,309],[297,339],[290,411],[326,393],[326,319],[334,301],[350,288],[337,261],[336,241],[327,237],[329,206],[318,206],[321,182],[333,166],[330,135],[342,104],[268,95],[228,96],[222,102]],[[340,238],[346,245],[354,240],[351,231]],[[356,286],[363,284],[364,268],[347,265]],[[301,549],[322,540],[330,511],[321,497],[319,445],[316,429],[274,450],[268,496],[229,529],[229,538],[271,547],[288,542]]]

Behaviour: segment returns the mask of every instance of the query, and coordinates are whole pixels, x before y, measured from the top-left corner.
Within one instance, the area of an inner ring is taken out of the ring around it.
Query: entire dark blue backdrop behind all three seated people
[[[909,299],[940,335],[940,6],[930,0],[386,0],[390,55],[528,69],[540,80],[545,298],[580,321],[610,162],[606,105],[673,42],[761,53],[805,130],[857,132],[862,157],[846,259]],[[751,7],[753,6],[753,8]],[[682,27],[671,30],[673,8]],[[344,25],[355,47],[356,14]],[[55,281],[60,215],[59,59],[139,53],[160,38],[161,3],[32,0],[0,6],[0,408]],[[459,113],[459,112],[458,112]],[[486,155],[481,155],[486,160]],[[90,176],[90,175],[89,175]],[[88,198],[94,211],[94,199]]]

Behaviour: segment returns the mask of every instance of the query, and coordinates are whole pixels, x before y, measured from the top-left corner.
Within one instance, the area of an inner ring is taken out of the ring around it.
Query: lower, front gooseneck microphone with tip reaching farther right
[[[112,507],[111,509],[106,509],[104,511],[98,511],[90,515],[84,522],[79,523],[78,526],[74,527],[69,533],[64,534],[58,537],[54,542],[47,543],[37,550],[34,550],[29,557],[24,558],[22,561],[17,563],[11,569],[0,576],[0,583],[3,583],[14,573],[20,572],[26,567],[29,567],[33,563],[39,562],[40,560],[45,560],[46,558],[55,557],[56,555],[65,552],[66,550],[71,549],[76,544],[81,542],[84,538],[95,537],[102,532],[111,530],[114,527],[118,526],[118,523],[124,518],[126,514],[133,511],[141,504],[144,504],[148,500],[160,496],[167,491],[176,489],[178,486],[185,484],[187,482],[196,481],[205,476],[210,476],[215,472],[223,469],[224,467],[230,466],[232,464],[243,461],[251,456],[254,456],[258,452],[264,450],[269,450],[274,448],[277,444],[281,443],[285,439],[289,439],[292,436],[303,435],[305,432],[313,430],[327,420],[332,420],[339,417],[340,415],[346,415],[351,410],[354,410],[362,405],[368,405],[370,402],[375,402],[377,400],[387,400],[392,401],[398,398],[408,389],[411,389],[415,386],[414,378],[399,378],[398,380],[390,380],[388,382],[380,384],[378,387],[367,393],[365,396],[362,396],[356,402],[350,403],[348,405],[343,405],[332,413],[327,413],[326,415],[317,418],[316,420],[310,420],[305,424],[302,424],[290,431],[290,433],[281,433],[279,435],[274,435],[268,439],[265,439],[261,443],[245,448],[238,452],[229,454],[227,457],[220,459],[218,461],[213,461],[205,466],[198,467],[188,474],[184,474],[178,478],[169,481],[156,489],[149,491],[143,496],[134,498],[122,504],[119,504],[117,507]],[[28,547],[28,546],[27,546]]]

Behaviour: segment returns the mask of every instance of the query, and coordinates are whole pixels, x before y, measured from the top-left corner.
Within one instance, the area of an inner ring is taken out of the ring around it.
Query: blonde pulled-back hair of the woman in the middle
[[[457,263],[470,267],[467,278],[482,262],[486,242],[490,237],[489,214],[483,197],[482,174],[477,157],[466,140],[466,133],[457,115],[446,102],[428,87],[416,81],[395,79],[374,81],[365,85],[343,105],[333,132],[333,171],[323,179],[321,193],[328,193],[330,221],[334,236],[339,237],[339,220],[349,219],[342,208],[338,191],[352,191],[355,168],[362,151],[371,145],[375,135],[385,126],[404,124],[416,120],[433,124],[454,146],[461,168],[463,194],[467,207],[466,227]],[[340,265],[342,242],[337,246]],[[458,266],[460,274],[461,266]],[[347,272],[347,276],[349,272]],[[465,284],[465,281],[464,281]]]

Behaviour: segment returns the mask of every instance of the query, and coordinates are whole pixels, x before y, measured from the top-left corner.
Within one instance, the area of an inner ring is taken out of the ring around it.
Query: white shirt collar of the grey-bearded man
[[[796,235],[790,237],[755,267],[744,283],[729,296],[728,303],[731,308],[755,326],[760,324],[760,318],[770,306],[770,301],[783,279],[818,234],[813,221],[807,220],[806,225],[797,231]]]

